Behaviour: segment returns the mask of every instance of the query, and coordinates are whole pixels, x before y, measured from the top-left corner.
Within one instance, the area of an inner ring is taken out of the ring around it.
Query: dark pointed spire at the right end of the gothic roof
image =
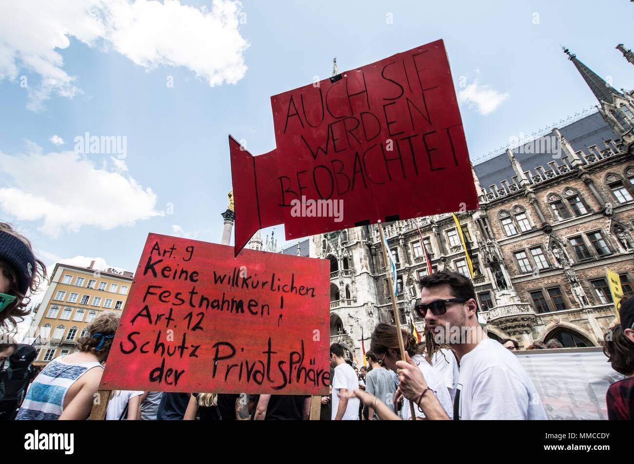
[[[569,49],[562,48],[600,103],[598,112],[605,122],[612,127],[614,133],[621,138],[625,145],[634,143],[634,91],[619,92],[592,69],[581,63]]]

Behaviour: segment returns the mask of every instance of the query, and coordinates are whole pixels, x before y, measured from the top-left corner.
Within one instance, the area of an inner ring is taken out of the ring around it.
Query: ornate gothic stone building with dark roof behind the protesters
[[[565,52],[598,112],[474,165],[480,209],[456,214],[489,336],[523,348],[551,338],[600,345],[616,323],[605,267],[619,273],[626,294],[634,286],[634,91],[617,91]],[[427,273],[423,246],[434,272],[469,275],[451,214],[387,223],[385,234],[403,323]],[[374,326],[393,321],[377,226],[313,236],[309,254],[331,263],[331,340],[361,362],[361,339],[369,349]]]

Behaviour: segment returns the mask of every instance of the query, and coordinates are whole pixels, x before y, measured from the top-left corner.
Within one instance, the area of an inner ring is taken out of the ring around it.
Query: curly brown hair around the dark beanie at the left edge
[[[23,236],[13,230],[11,224],[7,224],[6,222],[0,222],[0,231],[9,233],[25,243],[27,247],[33,251],[33,247],[31,246],[31,242]],[[43,261],[36,258],[36,268],[34,269],[33,279],[29,285],[30,293],[35,293],[40,285],[46,281],[46,264]],[[30,297],[24,295],[18,288],[20,288],[18,284],[18,276],[15,273],[15,270],[7,263],[0,260],[0,272],[3,273],[4,277],[6,277],[10,282],[10,287],[8,290],[9,295],[13,295],[16,297],[15,301],[11,303],[4,311],[0,313],[0,328],[13,326],[15,327],[18,322],[24,319],[24,316],[30,314],[31,309],[28,307],[31,302]],[[20,319],[20,320],[18,320]]]

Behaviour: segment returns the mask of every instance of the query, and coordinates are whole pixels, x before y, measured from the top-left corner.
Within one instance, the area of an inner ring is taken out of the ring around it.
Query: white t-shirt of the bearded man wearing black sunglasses
[[[533,381],[515,355],[491,338],[460,359],[460,420],[547,420]]]

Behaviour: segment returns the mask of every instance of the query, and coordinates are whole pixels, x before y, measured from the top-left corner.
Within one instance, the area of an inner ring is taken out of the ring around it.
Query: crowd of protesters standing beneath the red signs
[[[29,241],[0,223],[0,329],[28,314],[29,292],[46,277]],[[330,345],[330,391],[321,397],[321,420],[545,420],[533,381],[513,353],[516,340],[489,338],[478,320],[472,282],[440,271],[420,280],[417,316],[424,341],[379,323],[364,366]],[[634,418],[634,297],[623,300],[620,323],[605,333],[604,353],[624,378],[607,390],[609,419]],[[102,313],[73,354],[39,371],[36,351],[0,339],[0,420],[85,420],[91,414],[119,319]],[[6,330],[0,333],[7,333]],[[9,332],[10,333],[10,332]],[[460,335],[456,337],[456,333]],[[527,349],[560,349],[558,340]],[[403,360],[404,358],[404,360]],[[5,368],[6,360],[9,368]],[[107,420],[306,420],[310,396],[273,394],[112,391]]]

